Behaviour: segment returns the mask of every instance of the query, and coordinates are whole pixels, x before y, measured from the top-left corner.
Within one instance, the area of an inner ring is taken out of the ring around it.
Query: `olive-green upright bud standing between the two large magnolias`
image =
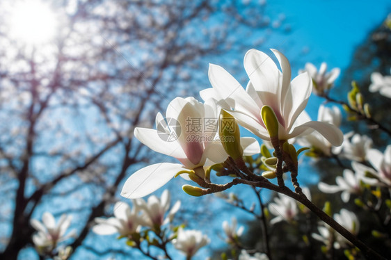
[[[221,138],[221,144],[223,145],[225,152],[227,152],[232,159],[235,160],[243,156],[243,148],[240,145],[239,125],[234,117],[225,110],[221,110],[220,113],[218,135]]]

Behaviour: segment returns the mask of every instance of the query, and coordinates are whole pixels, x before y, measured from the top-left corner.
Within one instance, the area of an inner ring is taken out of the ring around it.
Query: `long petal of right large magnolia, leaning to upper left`
[[[210,64],[209,81],[218,93],[218,96],[236,111],[244,111],[254,117],[257,116],[258,105],[240,83],[223,67]],[[219,105],[223,106],[223,103]]]

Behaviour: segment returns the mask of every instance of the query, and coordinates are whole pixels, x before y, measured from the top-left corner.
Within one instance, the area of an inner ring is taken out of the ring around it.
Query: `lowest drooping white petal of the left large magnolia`
[[[156,163],[142,168],[125,181],[121,196],[136,199],[149,195],[173,179],[181,170],[186,169],[179,163]]]

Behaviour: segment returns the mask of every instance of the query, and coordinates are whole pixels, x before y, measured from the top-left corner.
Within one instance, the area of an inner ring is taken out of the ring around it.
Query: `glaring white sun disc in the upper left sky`
[[[56,32],[56,16],[39,0],[18,1],[10,14],[10,34],[26,44],[51,40]]]

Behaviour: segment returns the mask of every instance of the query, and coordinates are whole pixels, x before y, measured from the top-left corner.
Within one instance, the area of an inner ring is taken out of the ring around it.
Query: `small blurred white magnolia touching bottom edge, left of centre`
[[[199,230],[178,229],[177,238],[173,240],[173,245],[177,250],[182,251],[186,257],[193,257],[201,247],[209,244],[210,239]]]

